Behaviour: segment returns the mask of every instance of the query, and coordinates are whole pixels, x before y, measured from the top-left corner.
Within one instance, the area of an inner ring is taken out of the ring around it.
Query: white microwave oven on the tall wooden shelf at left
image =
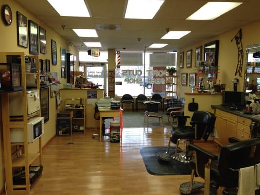
[[[27,139],[28,142],[34,142],[41,137],[44,133],[44,118],[35,117],[31,118],[27,123]],[[11,128],[10,139],[12,143],[24,142],[24,130],[23,128]]]

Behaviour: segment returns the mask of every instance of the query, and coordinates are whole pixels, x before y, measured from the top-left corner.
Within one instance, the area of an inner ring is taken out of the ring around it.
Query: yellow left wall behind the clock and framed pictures
[[[67,40],[63,39],[59,34],[54,32],[46,24],[41,22],[38,18],[28,12],[26,9],[22,8],[14,0],[0,0],[0,6],[8,4],[12,9],[13,21],[10,26],[6,26],[3,21],[0,21],[0,52],[24,52],[29,54],[29,48],[23,48],[17,46],[17,27],[16,27],[16,11],[19,11],[27,17],[27,20],[33,20],[39,26],[45,28],[47,37],[47,54],[39,53],[40,59],[50,59],[51,60],[51,39],[55,40],[57,43],[57,65],[50,65],[50,70],[52,72],[58,72],[60,74],[61,69],[61,57],[60,57],[60,47],[67,48]],[[78,49],[71,47],[71,53],[77,56],[76,69],[78,68]],[[60,82],[66,83],[64,78],[61,78]],[[56,102],[55,98],[50,98],[50,116],[49,121],[45,123],[45,134],[42,136],[42,144],[45,145],[51,137],[55,135],[55,120],[56,120]],[[2,111],[4,114],[4,111]],[[3,140],[2,140],[2,128],[0,128],[0,190],[4,187],[4,170],[3,170]]]

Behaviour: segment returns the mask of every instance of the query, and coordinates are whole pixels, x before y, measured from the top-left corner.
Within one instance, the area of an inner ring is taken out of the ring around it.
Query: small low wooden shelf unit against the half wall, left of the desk
[[[64,111],[73,111],[72,117],[72,131],[84,131],[86,130],[86,99],[84,98],[69,98],[65,99]],[[68,106],[71,105],[71,106]],[[80,105],[80,106],[77,106]],[[81,116],[77,116],[80,114]],[[74,126],[83,126],[82,129],[75,129]]]

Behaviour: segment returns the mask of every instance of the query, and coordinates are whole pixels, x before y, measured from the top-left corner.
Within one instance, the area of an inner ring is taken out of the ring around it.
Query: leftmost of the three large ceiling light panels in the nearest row
[[[84,0],[47,0],[60,16],[90,17]]]

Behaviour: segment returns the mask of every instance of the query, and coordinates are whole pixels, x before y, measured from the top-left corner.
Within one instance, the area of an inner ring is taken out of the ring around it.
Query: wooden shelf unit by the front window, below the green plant
[[[177,76],[166,75],[165,76],[165,98],[172,98],[178,94],[177,91]]]

